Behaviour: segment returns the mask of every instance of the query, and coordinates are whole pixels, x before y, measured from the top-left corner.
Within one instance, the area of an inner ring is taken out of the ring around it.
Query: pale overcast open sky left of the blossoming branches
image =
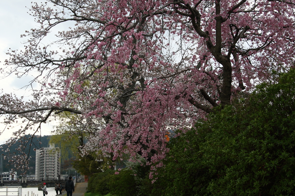
[[[34,1],[35,2],[35,1]],[[40,2],[38,0],[37,2]],[[27,6],[27,8],[26,8]],[[22,42],[25,38],[20,38],[21,34],[25,33],[25,30],[36,28],[34,18],[30,16],[29,7],[31,6],[31,0],[0,0],[0,66],[4,67],[4,60],[9,58],[5,52],[11,49],[22,49]],[[28,96],[30,93],[22,88],[27,84],[32,77],[27,76],[18,79],[14,75],[0,79],[0,89],[3,89],[4,93],[15,93],[17,96]],[[0,91],[1,92],[1,91]],[[29,98],[28,98],[29,99]],[[3,120],[3,118],[0,118]],[[52,130],[53,123],[43,126],[42,135],[49,135]],[[0,124],[0,129],[3,130],[4,125]],[[0,144],[3,144],[10,138],[11,133],[15,130],[6,130],[0,136]]]

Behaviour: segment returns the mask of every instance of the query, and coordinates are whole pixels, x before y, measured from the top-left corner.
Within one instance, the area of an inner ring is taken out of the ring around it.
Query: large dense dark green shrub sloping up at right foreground
[[[295,195],[295,72],[169,142],[163,195]]]

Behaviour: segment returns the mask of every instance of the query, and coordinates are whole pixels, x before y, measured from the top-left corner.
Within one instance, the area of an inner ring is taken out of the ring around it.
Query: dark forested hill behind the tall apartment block
[[[30,136],[26,135],[26,137],[30,137]],[[28,174],[35,174],[36,152],[34,151],[34,148],[40,149],[43,147],[48,147],[49,139],[50,139],[50,135],[44,135],[39,138],[36,138],[36,137],[33,138],[33,141],[32,141],[33,144],[32,144],[32,147],[30,148],[30,152],[29,152],[29,156],[31,158],[29,161],[30,170],[28,171]],[[39,142],[41,142],[41,144],[39,144]],[[8,160],[12,159],[11,157],[14,152],[16,152],[16,154],[17,154],[16,149],[17,149],[18,145],[19,145],[19,142],[12,145],[12,147],[10,148],[10,154],[7,154],[7,152],[3,153],[4,155],[7,155],[7,159],[6,160],[3,159],[3,171],[4,172],[8,172],[12,168],[14,168],[14,165],[9,164]],[[1,146],[3,147],[3,149],[6,147],[5,144],[2,144]],[[26,153],[28,154],[29,146],[26,149],[27,149]],[[21,172],[19,171],[18,173],[21,173]]]

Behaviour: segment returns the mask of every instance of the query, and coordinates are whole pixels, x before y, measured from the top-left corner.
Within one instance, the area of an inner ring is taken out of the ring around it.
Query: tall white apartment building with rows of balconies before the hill
[[[49,148],[36,150],[36,170],[35,179],[41,180],[49,178],[58,178],[60,175],[60,150],[54,145]]]

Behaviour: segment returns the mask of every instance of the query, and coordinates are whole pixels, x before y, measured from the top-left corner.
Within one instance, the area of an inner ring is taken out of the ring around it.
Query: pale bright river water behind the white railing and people
[[[6,187],[1,187],[0,191],[6,191]],[[9,188],[9,191],[16,191],[16,192],[9,192],[8,195],[11,196],[17,196],[17,188]],[[29,195],[28,195],[28,191],[29,191]],[[47,192],[48,195],[47,196],[55,196],[56,192],[54,190],[54,187],[47,187]],[[33,195],[32,195],[33,193]],[[6,195],[6,192],[0,192],[0,196],[1,195]],[[22,188],[22,196],[43,196],[43,191],[38,191],[37,187],[32,187],[32,188]],[[65,193],[63,192],[63,195],[65,195]]]

